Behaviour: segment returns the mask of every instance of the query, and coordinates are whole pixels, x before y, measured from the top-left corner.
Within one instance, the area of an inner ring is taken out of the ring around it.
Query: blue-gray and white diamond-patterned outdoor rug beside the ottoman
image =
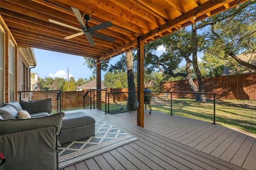
[[[59,169],[138,140],[105,121],[98,118],[94,119],[96,120],[94,137],[66,143],[58,147]]]

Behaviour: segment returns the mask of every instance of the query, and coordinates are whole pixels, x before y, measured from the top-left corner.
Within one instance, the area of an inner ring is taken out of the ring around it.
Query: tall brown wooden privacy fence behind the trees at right
[[[198,85],[197,79],[194,82]],[[204,78],[204,90],[219,100],[256,100],[256,73]],[[191,92],[186,80],[162,83],[163,91]]]

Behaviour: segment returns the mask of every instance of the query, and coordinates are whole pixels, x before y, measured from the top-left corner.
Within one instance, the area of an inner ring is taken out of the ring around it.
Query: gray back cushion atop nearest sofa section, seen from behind
[[[62,127],[62,117],[64,117],[64,115],[65,114],[63,112],[60,112],[44,117],[0,120],[0,135],[37,129],[50,125],[58,127],[56,135],[59,135]]]

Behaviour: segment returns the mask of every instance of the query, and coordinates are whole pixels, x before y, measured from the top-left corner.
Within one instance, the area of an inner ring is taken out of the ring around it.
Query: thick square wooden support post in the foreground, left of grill
[[[138,102],[137,107],[137,125],[144,127],[144,42],[141,36],[137,39],[137,56],[138,56]]]

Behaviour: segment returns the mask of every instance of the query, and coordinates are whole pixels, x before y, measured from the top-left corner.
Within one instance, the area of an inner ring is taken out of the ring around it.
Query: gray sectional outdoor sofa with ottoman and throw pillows
[[[95,135],[95,120],[82,111],[50,114],[51,99],[0,107],[1,170],[58,170],[60,144]]]

